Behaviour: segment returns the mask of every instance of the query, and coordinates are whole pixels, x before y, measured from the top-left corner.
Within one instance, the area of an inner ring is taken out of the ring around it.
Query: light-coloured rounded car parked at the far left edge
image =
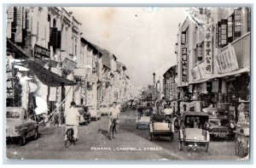
[[[38,125],[33,117],[29,118],[26,109],[21,107],[6,108],[6,140],[17,138],[20,145],[25,145],[28,137],[38,138]]]

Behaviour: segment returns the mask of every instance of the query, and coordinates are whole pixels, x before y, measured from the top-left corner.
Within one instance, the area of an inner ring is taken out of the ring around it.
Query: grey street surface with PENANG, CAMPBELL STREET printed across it
[[[120,116],[118,134],[108,139],[108,117],[79,126],[79,142],[65,148],[65,127],[41,127],[38,140],[25,146],[7,145],[9,159],[23,160],[239,160],[234,142],[210,142],[209,151],[203,148],[178,150],[177,133],[169,137],[148,139],[148,130],[137,130],[136,111]]]

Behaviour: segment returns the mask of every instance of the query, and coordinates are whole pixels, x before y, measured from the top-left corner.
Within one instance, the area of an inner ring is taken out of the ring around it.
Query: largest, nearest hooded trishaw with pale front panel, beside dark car
[[[204,147],[208,151],[210,134],[206,130],[209,116],[201,112],[184,112],[181,129],[178,132],[178,147],[183,150],[183,146],[190,148]]]

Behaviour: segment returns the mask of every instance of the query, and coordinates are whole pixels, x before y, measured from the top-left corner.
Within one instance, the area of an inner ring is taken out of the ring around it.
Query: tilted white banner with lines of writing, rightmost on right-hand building
[[[215,56],[216,66],[219,73],[226,73],[238,70],[235,48],[231,45]]]

